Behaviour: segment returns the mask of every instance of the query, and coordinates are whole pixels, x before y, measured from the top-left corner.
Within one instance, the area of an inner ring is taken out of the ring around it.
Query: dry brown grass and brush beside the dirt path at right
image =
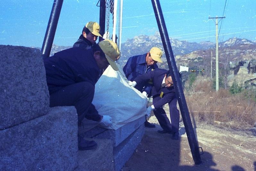
[[[246,129],[253,127],[256,121],[256,102],[248,97],[248,91],[231,94],[228,90],[219,89],[216,92],[212,88],[212,80],[198,76],[188,93],[184,93],[196,123]]]

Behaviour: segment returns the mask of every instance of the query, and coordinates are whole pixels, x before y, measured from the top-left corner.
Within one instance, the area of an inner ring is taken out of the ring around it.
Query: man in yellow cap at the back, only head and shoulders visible
[[[90,21],[88,22],[80,35],[79,39],[74,43],[73,47],[82,47],[84,49],[90,49],[95,45],[98,36],[102,37],[99,33],[100,26],[97,22]]]

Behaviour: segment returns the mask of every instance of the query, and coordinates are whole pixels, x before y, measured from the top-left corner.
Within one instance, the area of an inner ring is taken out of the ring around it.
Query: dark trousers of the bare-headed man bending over
[[[154,99],[153,99],[154,104]],[[154,114],[157,117],[157,120],[160,124],[160,126],[163,128],[163,130],[166,131],[173,131],[178,132],[179,131],[179,121],[180,121],[180,113],[177,109],[177,99],[172,99],[169,102],[169,111],[170,111],[170,123],[168,117],[166,116],[166,112],[163,108],[158,108],[154,110]]]

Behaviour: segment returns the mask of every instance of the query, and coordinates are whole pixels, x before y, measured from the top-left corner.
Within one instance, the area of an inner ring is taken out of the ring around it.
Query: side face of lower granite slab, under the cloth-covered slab
[[[115,171],[120,171],[126,161],[130,159],[134,150],[137,148],[144,135],[144,124],[135,130],[128,138],[126,138],[117,147],[114,147],[114,165]]]

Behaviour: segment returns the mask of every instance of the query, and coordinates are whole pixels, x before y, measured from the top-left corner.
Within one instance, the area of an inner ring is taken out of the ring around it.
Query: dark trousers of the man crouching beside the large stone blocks
[[[90,82],[79,82],[68,85],[50,94],[50,107],[75,106],[78,123],[87,114],[94,96],[94,86]]]

